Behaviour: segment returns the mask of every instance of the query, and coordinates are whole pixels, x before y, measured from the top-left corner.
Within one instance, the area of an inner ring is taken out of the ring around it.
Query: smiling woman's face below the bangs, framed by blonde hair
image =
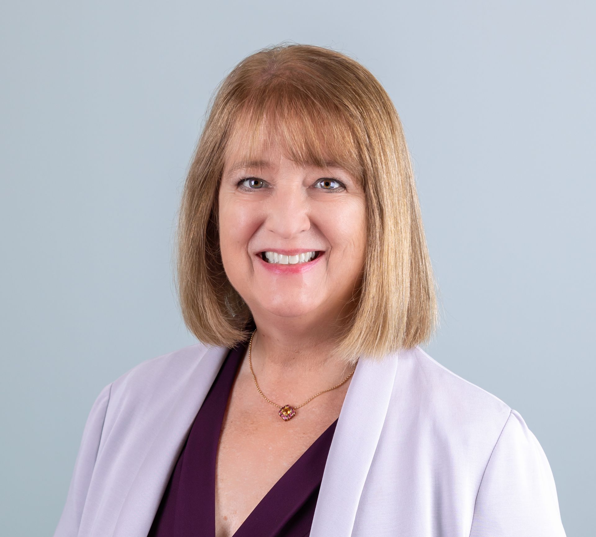
[[[232,138],[219,189],[229,281],[255,317],[334,320],[361,283],[364,192],[343,168],[300,167],[271,145],[255,167],[237,147]]]

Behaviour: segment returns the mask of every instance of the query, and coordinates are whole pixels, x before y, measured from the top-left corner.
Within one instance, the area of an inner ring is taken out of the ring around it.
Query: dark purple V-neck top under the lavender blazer
[[[195,417],[147,537],[215,537],[215,461],[219,435],[232,383],[247,345],[248,340],[229,350]],[[280,477],[233,537],[309,535],[336,424],[337,420]]]

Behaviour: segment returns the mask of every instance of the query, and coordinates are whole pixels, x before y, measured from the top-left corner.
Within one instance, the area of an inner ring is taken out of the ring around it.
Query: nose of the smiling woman
[[[291,183],[291,184],[289,184]],[[291,239],[311,227],[310,204],[301,180],[282,183],[266,201],[265,225],[268,231]]]

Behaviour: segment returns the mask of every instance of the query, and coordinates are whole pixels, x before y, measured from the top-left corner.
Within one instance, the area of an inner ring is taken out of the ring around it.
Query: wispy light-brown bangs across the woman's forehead
[[[361,143],[349,116],[330,96],[313,98],[287,82],[255,88],[232,124],[226,159],[232,157],[232,139],[234,168],[259,167],[263,151],[275,147],[297,166],[339,166],[362,185]]]

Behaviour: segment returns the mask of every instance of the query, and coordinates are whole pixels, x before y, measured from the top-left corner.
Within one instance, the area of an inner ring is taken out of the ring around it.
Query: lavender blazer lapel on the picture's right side
[[[398,368],[398,353],[358,360],[329,448],[311,537],[349,537]]]

